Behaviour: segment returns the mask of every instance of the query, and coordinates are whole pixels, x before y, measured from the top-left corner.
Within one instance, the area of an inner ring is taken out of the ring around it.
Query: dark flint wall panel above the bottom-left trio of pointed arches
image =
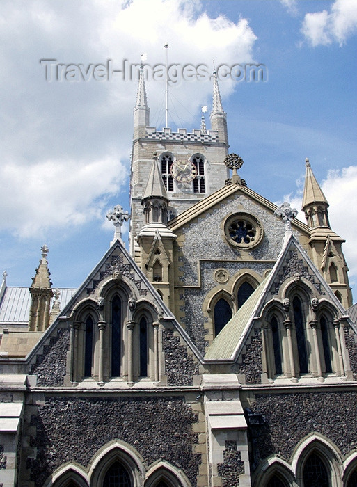
[[[36,434],[30,445],[37,456],[28,458],[26,466],[35,487],[41,487],[63,463],[86,468],[98,449],[120,439],[132,445],[146,465],[165,459],[196,486],[200,454],[193,454],[198,443],[194,422],[196,416],[183,397],[46,397],[38,415],[31,417]]]

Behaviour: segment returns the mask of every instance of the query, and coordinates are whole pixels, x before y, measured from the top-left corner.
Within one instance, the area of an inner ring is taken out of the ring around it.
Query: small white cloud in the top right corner
[[[312,46],[344,44],[349,35],[357,32],[356,0],[336,0],[330,12],[307,13],[301,32]]]

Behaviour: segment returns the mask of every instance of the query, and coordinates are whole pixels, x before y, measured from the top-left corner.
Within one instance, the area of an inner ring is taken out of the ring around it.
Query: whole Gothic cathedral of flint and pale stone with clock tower
[[[142,69],[109,249],[78,289],[52,288],[45,245],[30,287],[3,273],[0,487],[357,486],[328,201],[308,159],[306,223],[241,179],[215,73],[209,126],[150,127]]]

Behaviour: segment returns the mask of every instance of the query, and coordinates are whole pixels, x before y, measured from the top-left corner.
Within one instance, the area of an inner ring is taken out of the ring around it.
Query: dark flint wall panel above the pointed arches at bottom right
[[[342,455],[356,449],[357,392],[256,394],[253,410],[266,420],[254,433],[257,461],[271,454],[289,461],[296,444],[309,433],[326,436]]]

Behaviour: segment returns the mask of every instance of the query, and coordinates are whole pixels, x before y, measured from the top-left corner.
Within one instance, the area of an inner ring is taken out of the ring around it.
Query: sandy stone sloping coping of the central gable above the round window
[[[223,186],[223,188],[219,189],[212,195],[207,196],[204,200],[200,200],[193,205],[186,211],[183,211],[180,215],[176,216],[172,220],[168,222],[168,227],[170,227],[173,232],[176,232],[180,227],[184,225],[188,225],[193,219],[203,214],[205,211],[209,211],[215,205],[223,202],[227,198],[232,198],[235,195],[245,195],[247,198],[257,202],[262,207],[267,208],[272,214],[276,210],[277,206],[274,205],[271,201],[263,198],[258,193],[255,193],[253,189],[248,188],[247,186],[241,186],[240,184],[229,184],[228,186]],[[292,221],[292,225],[304,234],[308,234],[310,236],[310,228],[305,223],[294,219]]]

